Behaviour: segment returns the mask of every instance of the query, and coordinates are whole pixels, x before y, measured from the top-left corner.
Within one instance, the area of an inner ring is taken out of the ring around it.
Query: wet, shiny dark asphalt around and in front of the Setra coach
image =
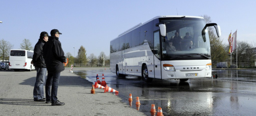
[[[165,116],[191,115],[256,115],[256,71],[213,70],[218,79],[158,80],[144,83],[140,77],[126,76],[117,78],[109,70],[79,71],[82,78],[93,83],[102,73],[109,87],[119,91],[122,102],[129,105],[129,94],[133,101],[131,108],[150,116],[151,104],[156,110],[162,108]],[[136,107],[136,97],[140,98],[140,107]]]

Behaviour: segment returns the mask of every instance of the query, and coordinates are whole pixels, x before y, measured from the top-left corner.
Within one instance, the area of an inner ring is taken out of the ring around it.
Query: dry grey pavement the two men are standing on
[[[73,71],[80,69],[74,68]],[[99,68],[82,70],[95,69]],[[69,68],[61,73],[58,87],[58,100],[64,102],[64,106],[34,102],[35,80],[36,71],[0,71],[0,116],[144,116],[142,112],[120,102],[121,98],[113,93],[95,89],[96,93],[91,94],[92,83],[69,73]]]

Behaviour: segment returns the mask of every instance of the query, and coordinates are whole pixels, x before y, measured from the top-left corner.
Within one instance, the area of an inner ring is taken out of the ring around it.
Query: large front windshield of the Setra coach
[[[166,37],[162,37],[161,60],[211,59],[210,40],[206,28],[206,41],[202,29],[206,25],[200,18],[164,18]]]

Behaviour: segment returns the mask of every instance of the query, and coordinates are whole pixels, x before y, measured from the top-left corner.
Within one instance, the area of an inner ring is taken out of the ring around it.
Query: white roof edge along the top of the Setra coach
[[[126,33],[128,33],[128,32],[130,32],[130,31],[132,31],[132,30],[134,30],[134,29],[136,29],[136,28],[138,28],[138,27],[140,27],[140,26],[143,26],[144,24],[147,24],[148,22],[151,22],[152,20],[155,20],[155,19],[157,19],[157,18],[181,18],[181,17],[187,17],[187,18],[202,18],[202,19],[203,19],[203,17],[201,17],[201,16],[156,16],[156,17],[154,17],[154,18],[148,20],[148,21],[145,22],[145,23],[139,23],[138,25],[136,25],[136,26],[134,26],[134,27],[128,29],[127,31],[124,31],[123,33],[119,34],[118,37],[120,37],[120,36],[122,36],[122,35],[124,35],[124,34],[126,34]],[[116,38],[117,38],[117,37],[116,37]],[[116,38],[114,38],[114,39],[116,39]],[[114,40],[114,39],[113,39],[113,40]],[[111,41],[113,41],[113,40],[111,40]]]

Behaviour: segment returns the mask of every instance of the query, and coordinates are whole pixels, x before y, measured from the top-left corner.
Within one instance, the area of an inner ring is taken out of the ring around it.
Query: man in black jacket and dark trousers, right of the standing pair
[[[60,102],[57,98],[60,72],[64,71],[63,63],[66,63],[66,57],[59,41],[60,33],[58,29],[52,29],[51,36],[44,44],[43,52],[48,71],[45,91],[46,103],[52,103],[52,106],[61,106],[65,103]],[[51,89],[52,86],[52,90]]]

